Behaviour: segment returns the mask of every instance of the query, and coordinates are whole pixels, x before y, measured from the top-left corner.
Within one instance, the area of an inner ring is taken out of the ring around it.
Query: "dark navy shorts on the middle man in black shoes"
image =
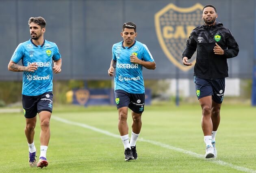
[[[115,90],[115,103],[117,104],[117,109],[128,107],[135,113],[143,113],[145,93],[131,94],[124,90]]]

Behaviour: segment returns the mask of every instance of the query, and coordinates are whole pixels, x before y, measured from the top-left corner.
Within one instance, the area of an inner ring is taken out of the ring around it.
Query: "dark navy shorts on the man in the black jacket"
[[[225,78],[220,79],[202,79],[194,77],[195,93],[197,98],[213,96],[212,99],[218,104],[221,104],[225,92]]]

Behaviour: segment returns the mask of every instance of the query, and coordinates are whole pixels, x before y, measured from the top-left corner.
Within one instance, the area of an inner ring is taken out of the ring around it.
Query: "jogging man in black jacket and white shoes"
[[[194,81],[197,98],[202,107],[202,130],[206,143],[205,158],[216,158],[215,136],[220,122],[220,109],[225,92],[225,77],[228,77],[227,58],[237,56],[238,45],[230,30],[218,17],[215,6],[206,5],[202,10],[204,24],[195,28],[187,40],[182,53],[183,64],[197,49]]]

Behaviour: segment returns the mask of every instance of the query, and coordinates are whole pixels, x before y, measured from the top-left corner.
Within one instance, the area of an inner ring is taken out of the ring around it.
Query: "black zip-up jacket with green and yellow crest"
[[[216,55],[213,48],[217,43],[223,50],[223,55]],[[238,55],[239,47],[230,30],[222,23],[215,25],[202,25],[195,28],[187,40],[187,46],[182,58],[190,59],[197,49],[194,76],[203,79],[219,79],[228,77],[227,58]]]

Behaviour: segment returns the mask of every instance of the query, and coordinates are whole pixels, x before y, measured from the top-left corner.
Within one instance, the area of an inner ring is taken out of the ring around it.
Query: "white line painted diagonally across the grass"
[[[111,136],[111,137],[120,138],[120,135],[115,135],[115,134],[113,134],[111,132],[108,132],[106,130],[101,130],[101,129],[95,128],[93,126],[89,126],[87,124],[82,124],[82,123],[79,123],[79,122],[72,122],[72,121],[65,120],[63,118],[56,117],[56,116],[52,116],[51,119],[54,119],[56,121],[63,122],[63,123],[66,123],[66,124],[71,124],[71,125],[74,125],[74,126],[79,126],[79,127],[87,128],[87,129],[93,130],[95,132],[100,132],[102,134],[105,134],[105,135],[108,135],[108,136]],[[181,152],[183,154],[187,154],[187,155],[190,155],[190,156],[193,156],[193,157],[196,157],[196,158],[204,159],[204,155],[202,155],[202,154],[197,154],[197,153],[194,153],[194,152],[191,152],[191,151],[188,151],[188,150],[183,150],[181,148],[173,147],[171,145],[167,145],[167,144],[160,143],[160,142],[157,142],[157,141],[151,141],[151,140],[146,140],[146,139],[138,139],[138,141],[143,141],[143,142],[151,143],[153,145],[157,145],[157,146],[160,146],[160,147],[163,147],[163,148],[167,148],[169,150],[174,150],[174,151]],[[221,160],[217,160],[217,159],[216,160],[215,159],[209,159],[209,160],[211,162],[214,162],[214,163],[219,164],[221,166],[230,167],[230,168],[236,169],[238,171],[243,171],[243,172],[248,172],[248,173],[256,173],[256,170],[248,169],[248,168],[245,168],[245,167],[236,166],[234,164],[231,164],[231,163],[228,163],[228,162],[223,162]]]

